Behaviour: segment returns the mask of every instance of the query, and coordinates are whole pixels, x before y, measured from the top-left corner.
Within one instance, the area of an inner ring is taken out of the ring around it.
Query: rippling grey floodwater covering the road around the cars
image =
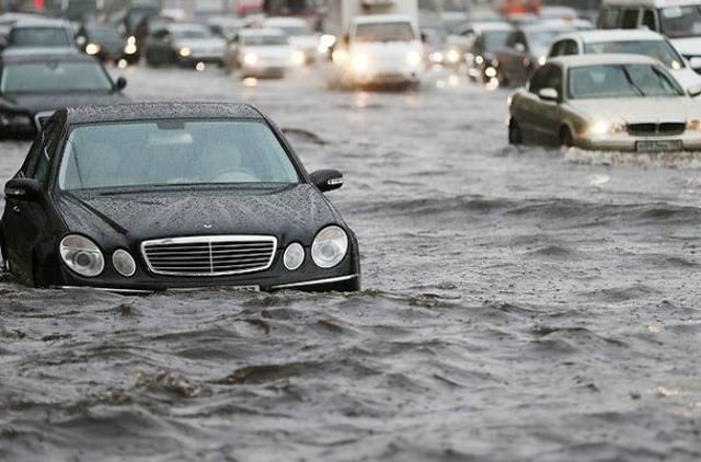
[[[243,101],[358,234],[356,294],[0,282],[0,460],[701,458],[701,154],[510,148],[506,92],[129,69]],[[26,142],[0,143],[0,178]],[[112,458],[112,459],[111,459]]]

